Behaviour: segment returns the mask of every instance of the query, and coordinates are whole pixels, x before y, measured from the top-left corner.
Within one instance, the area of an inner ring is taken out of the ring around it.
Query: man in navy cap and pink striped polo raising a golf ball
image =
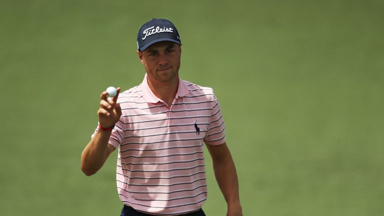
[[[220,106],[211,88],[181,80],[181,41],[166,19],[137,34],[142,83],[107,98],[101,93],[98,128],[81,154],[92,175],[118,146],[116,182],[121,215],[205,215],[203,142],[212,157],[227,216],[242,215],[235,167],[225,143]]]

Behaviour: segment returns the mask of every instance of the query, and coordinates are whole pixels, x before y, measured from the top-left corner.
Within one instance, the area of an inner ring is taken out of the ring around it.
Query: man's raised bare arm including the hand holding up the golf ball
[[[117,94],[109,101],[106,91],[103,91],[100,95],[100,108],[97,110],[97,117],[101,127],[113,127],[121,116],[120,104],[116,102],[120,88],[116,90]],[[92,175],[96,173],[114,150],[114,146],[108,144],[111,132],[112,130],[97,130],[93,138],[85,146],[81,153],[81,170],[84,174]]]

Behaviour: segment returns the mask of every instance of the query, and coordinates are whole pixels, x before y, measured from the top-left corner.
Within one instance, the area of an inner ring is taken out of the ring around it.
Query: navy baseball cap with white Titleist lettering
[[[172,41],[181,44],[176,27],[167,19],[153,18],[145,22],[137,32],[137,49],[140,51],[160,41]]]

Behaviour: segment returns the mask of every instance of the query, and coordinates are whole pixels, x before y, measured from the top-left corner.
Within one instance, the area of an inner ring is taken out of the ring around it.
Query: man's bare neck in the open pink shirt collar
[[[168,106],[170,106],[177,92],[179,81],[178,76],[167,83],[150,81],[148,77],[146,80],[153,94],[163,100]]]

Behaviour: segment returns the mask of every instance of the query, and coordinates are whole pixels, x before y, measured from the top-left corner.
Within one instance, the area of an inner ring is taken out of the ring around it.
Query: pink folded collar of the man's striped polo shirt
[[[148,81],[146,79],[146,73],[144,75],[144,79],[140,84],[140,88],[143,92],[143,97],[146,102],[156,103],[161,101],[161,99],[156,97],[156,95],[154,95],[152,90],[149,88]],[[183,97],[188,92],[189,92],[189,89],[186,87],[184,81],[181,78],[178,78],[178,86],[177,86],[177,92],[176,92],[175,98],[177,99],[178,97]]]

